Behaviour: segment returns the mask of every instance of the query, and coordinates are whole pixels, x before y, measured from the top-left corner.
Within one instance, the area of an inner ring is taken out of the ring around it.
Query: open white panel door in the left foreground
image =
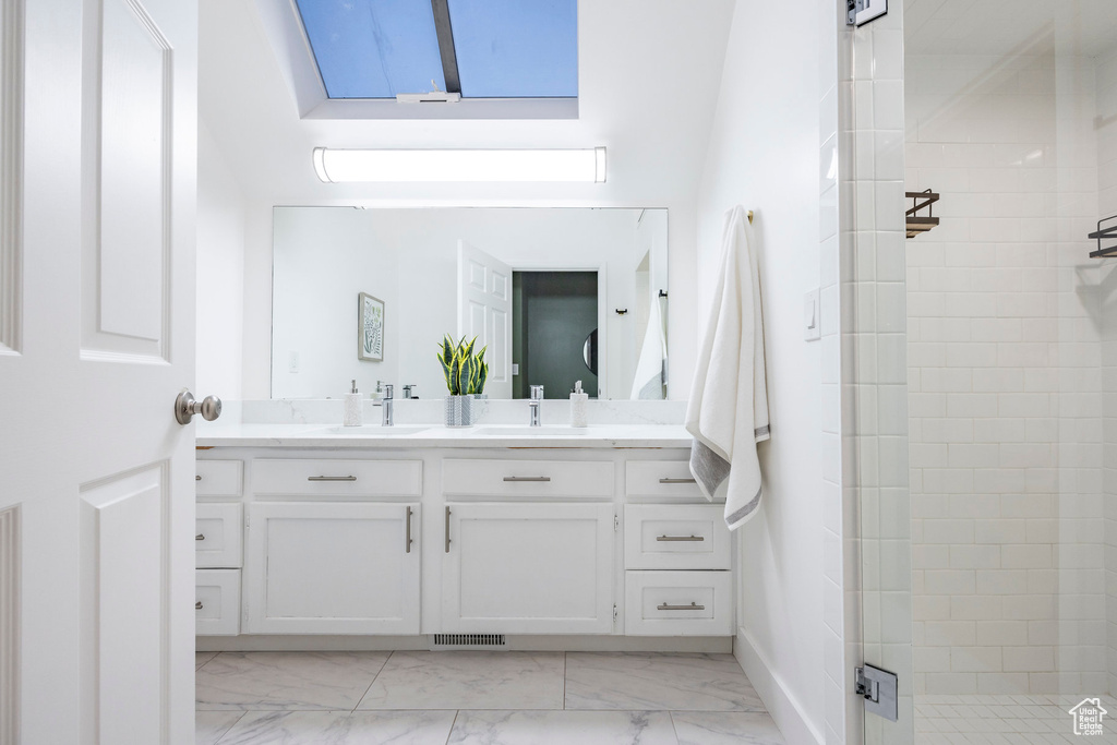
[[[193,742],[197,16],[0,11],[0,742]]]

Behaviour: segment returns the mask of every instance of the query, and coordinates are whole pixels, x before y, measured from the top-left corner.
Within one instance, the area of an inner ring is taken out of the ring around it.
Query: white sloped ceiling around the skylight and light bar
[[[582,0],[576,121],[300,120],[255,3],[200,4],[199,116],[251,200],[662,206],[697,193],[734,0]],[[311,163],[315,146],[599,145],[604,184],[324,184]]]

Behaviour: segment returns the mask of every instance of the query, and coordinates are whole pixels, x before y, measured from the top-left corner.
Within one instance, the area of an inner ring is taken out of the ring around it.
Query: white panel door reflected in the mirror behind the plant
[[[488,346],[485,392],[512,398],[512,267],[481,249],[458,241],[458,335]]]

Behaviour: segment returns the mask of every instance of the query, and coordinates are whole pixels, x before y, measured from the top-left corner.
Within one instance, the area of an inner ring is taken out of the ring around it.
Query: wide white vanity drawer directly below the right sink
[[[612,497],[613,465],[448,458],[442,465],[442,491],[456,497]]]

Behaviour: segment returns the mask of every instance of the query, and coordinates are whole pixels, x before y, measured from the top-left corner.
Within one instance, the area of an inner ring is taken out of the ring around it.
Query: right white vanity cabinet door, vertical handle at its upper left
[[[446,631],[612,631],[612,505],[451,504],[448,509]]]

